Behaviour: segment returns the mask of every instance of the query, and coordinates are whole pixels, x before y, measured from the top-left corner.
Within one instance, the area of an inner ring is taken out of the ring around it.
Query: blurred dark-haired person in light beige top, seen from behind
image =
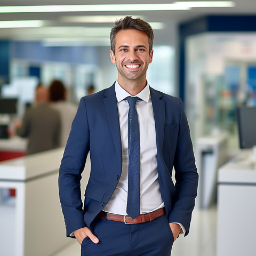
[[[63,83],[54,79],[49,87],[51,107],[58,110],[61,118],[60,146],[65,147],[77,106],[67,101],[67,89]]]

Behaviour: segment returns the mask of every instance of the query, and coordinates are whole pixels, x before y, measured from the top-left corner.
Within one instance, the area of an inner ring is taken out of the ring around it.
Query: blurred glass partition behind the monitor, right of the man
[[[204,33],[186,42],[186,112],[193,140],[227,132],[238,148],[236,109],[256,105],[256,34]]]

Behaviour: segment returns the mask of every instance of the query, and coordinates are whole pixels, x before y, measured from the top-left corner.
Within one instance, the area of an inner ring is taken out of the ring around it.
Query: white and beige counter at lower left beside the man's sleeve
[[[15,223],[14,230],[1,229],[1,255],[47,256],[70,242],[58,194],[62,154],[63,148],[59,148],[0,163],[0,188],[16,190],[14,218],[10,220]],[[90,162],[85,169],[82,189],[90,174]],[[0,215],[4,204],[0,204]],[[5,220],[0,217],[1,221]],[[13,248],[5,247],[5,239],[13,239]]]

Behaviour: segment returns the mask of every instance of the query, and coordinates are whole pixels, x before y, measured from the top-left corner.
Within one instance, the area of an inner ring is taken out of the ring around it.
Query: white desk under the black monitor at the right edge
[[[256,169],[243,150],[218,172],[217,256],[256,255]]]

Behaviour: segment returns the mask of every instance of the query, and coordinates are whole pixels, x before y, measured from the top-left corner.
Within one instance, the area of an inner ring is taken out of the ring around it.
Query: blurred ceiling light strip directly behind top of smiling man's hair
[[[77,22],[77,23],[114,23],[116,20],[124,18],[126,15],[77,15],[77,16],[62,16],[60,21],[63,22]],[[130,15],[132,17],[140,17],[141,15]]]

